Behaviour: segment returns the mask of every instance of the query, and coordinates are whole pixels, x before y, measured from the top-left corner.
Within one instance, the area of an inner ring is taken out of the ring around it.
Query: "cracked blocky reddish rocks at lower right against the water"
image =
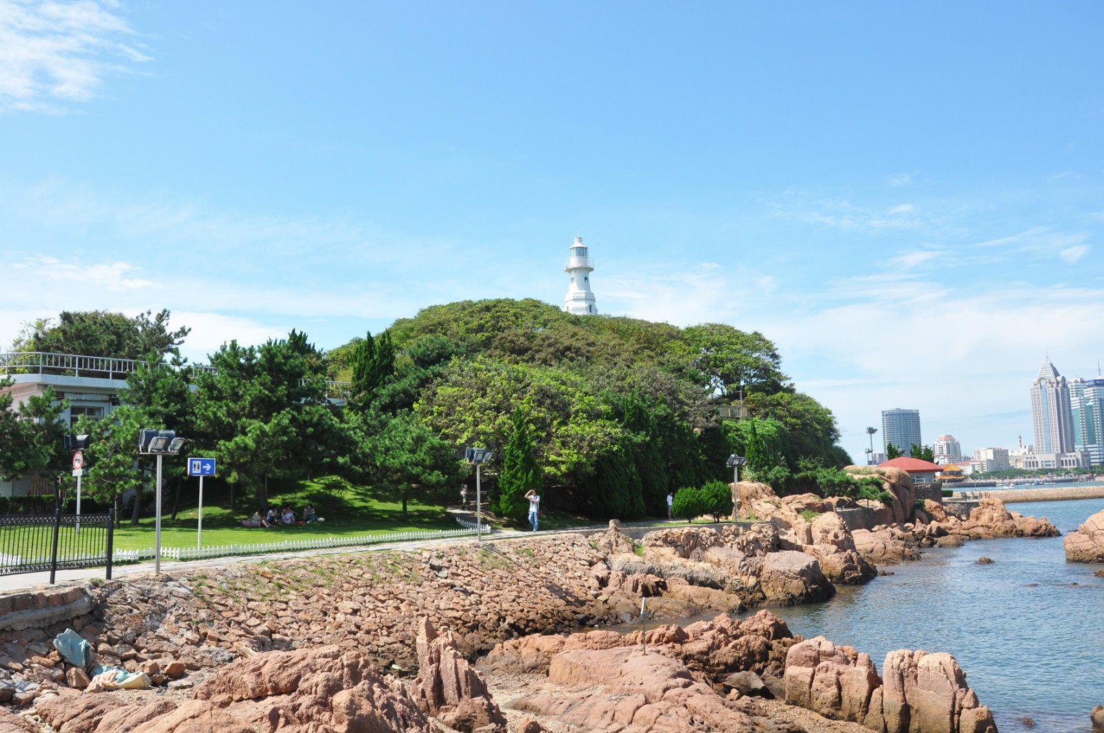
[[[824,637],[786,656],[786,701],[881,733],[996,733],[992,713],[945,652],[891,651],[879,677],[869,655]]]

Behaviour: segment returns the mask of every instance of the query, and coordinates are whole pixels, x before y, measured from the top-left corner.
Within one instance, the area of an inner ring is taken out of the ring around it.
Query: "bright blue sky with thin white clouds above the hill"
[[[1031,443],[1104,360],[1104,4],[0,0],[0,350],[203,362],[455,300],[757,330],[857,461]],[[880,433],[874,447],[880,449]]]

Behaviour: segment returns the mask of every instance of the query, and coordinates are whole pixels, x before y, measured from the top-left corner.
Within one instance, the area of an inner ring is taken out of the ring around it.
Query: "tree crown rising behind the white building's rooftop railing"
[[[17,351],[142,359],[150,352],[169,353],[191,332],[169,330],[169,311],[151,310],[130,318],[106,310],[62,311],[55,322],[42,319],[26,323],[15,339]]]

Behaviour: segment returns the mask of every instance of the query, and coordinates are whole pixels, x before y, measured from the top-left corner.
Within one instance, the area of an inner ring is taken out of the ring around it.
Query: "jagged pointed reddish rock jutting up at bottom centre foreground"
[[[422,710],[463,733],[490,726],[506,730],[506,719],[487,692],[482,677],[456,650],[453,634],[437,634],[428,618],[417,633],[418,673],[413,693]]]

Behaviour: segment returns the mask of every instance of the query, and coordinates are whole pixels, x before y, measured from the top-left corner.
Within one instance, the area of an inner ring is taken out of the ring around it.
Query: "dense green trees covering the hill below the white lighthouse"
[[[261,504],[269,480],[326,474],[404,501],[411,490],[455,495],[470,470],[457,450],[490,446],[496,463],[482,476],[511,518],[523,516],[518,497],[541,485],[548,509],[602,519],[664,516],[670,489],[709,485],[693,489],[711,497],[698,513],[724,516],[731,490],[710,482],[728,487],[730,454],[749,458],[747,477],[777,486],[805,480],[807,465],[849,463],[831,413],[794,389],[775,346],[723,323],[680,329],[537,300],[460,301],[329,352],[296,331],[258,347],[232,341],[208,370],[179,359],[187,329],[170,331],[167,311],[117,316],[63,314],[22,342],[150,361],[113,418],[88,427],[89,486],[104,501],[141,484],[141,427],[177,429],[190,455],[219,458],[220,478]],[[327,379],[351,383],[347,401],[330,399]],[[730,416],[736,405],[751,417]]]

